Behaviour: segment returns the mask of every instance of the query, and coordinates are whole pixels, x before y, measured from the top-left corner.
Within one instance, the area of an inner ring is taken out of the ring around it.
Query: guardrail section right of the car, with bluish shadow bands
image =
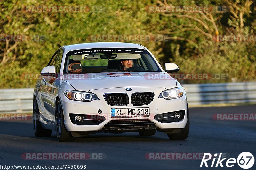
[[[256,103],[256,83],[185,84],[189,105]]]

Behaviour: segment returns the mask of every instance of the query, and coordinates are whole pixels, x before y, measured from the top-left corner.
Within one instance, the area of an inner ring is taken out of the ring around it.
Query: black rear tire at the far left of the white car
[[[52,130],[44,129],[39,121],[40,114],[38,109],[38,104],[36,98],[33,100],[33,131],[36,137],[50,137],[52,134]]]

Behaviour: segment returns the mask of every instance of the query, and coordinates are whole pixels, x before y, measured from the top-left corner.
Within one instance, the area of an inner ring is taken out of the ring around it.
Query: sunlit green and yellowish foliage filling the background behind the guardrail
[[[170,6],[229,6],[232,0],[173,0]],[[36,75],[62,45],[95,42],[91,35],[165,36],[165,41],[125,41],[147,47],[164,66],[177,63],[182,73],[225,74],[223,80],[185,83],[219,83],[256,80],[255,42],[216,42],[219,35],[255,35],[255,3],[239,1],[243,19],[230,11],[210,13],[214,24],[199,13],[149,12],[165,1],[119,0],[1,0],[0,35],[26,35],[27,41],[0,41],[0,88],[34,87]],[[25,6],[86,6],[87,12],[27,12]],[[239,12],[238,15],[239,15]],[[235,11],[236,12],[236,11]],[[176,15],[179,14],[180,16]],[[191,18],[203,21],[204,25]],[[198,27],[199,29],[194,29]],[[184,29],[185,28],[185,29]],[[203,33],[204,32],[204,33]],[[217,35],[218,35],[217,34]],[[37,40],[37,41],[36,41]],[[29,77],[25,75],[30,74]],[[33,76],[31,76],[31,74]]]

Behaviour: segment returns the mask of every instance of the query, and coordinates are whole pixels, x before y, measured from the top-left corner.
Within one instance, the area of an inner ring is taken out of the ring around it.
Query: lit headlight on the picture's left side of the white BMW
[[[92,100],[100,100],[95,94],[89,93],[89,92],[67,90],[64,92],[64,94],[70,100],[86,101],[86,102],[92,101]]]

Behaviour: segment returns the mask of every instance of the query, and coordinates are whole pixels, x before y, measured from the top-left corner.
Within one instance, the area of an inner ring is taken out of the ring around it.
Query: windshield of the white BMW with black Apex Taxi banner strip
[[[161,71],[156,61],[143,49],[95,48],[70,51],[63,73]]]

